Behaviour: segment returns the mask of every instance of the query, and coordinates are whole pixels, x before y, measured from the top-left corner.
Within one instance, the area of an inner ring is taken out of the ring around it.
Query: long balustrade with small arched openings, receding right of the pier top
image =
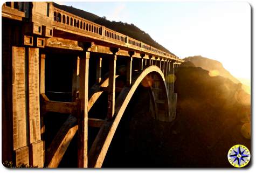
[[[93,36],[96,39],[105,40],[110,43],[123,46],[128,46],[135,50],[141,50],[144,52],[155,54],[157,56],[164,56],[166,58],[178,59],[178,57],[172,56],[167,52],[156,49],[155,47],[147,45],[142,41],[128,37],[122,33],[116,32],[105,26],[96,24],[56,7],[53,8],[52,24],[54,26],[59,26],[66,31],[71,30],[81,32],[89,36]]]

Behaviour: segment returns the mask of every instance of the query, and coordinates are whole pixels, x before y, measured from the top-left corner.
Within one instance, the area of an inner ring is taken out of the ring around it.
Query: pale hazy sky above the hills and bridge
[[[220,61],[234,77],[251,77],[251,8],[246,2],[61,4],[133,23],[179,58],[201,55]]]

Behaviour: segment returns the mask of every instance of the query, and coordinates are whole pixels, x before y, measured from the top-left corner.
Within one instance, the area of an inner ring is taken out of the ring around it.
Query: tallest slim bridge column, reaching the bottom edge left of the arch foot
[[[90,53],[80,56],[79,64],[79,96],[78,96],[78,168],[87,168],[88,140],[88,73]]]

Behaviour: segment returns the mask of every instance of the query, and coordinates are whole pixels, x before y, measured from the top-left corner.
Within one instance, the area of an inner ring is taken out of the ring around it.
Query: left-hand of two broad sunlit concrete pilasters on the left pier
[[[5,47],[4,47],[5,48]],[[3,54],[4,63],[9,65],[9,72],[12,74],[12,79],[10,79],[10,96],[6,95],[6,98],[10,98],[10,107],[11,110],[10,114],[5,113],[5,123],[2,124],[3,126],[8,126],[7,124],[11,123],[10,127],[12,134],[9,134],[11,137],[11,141],[13,144],[9,143],[12,148],[12,155],[13,155],[13,162],[16,165],[20,165],[22,163],[29,164],[29,147],[27,147],[27,134],[26,134],[26,127],[27,127],[27,117],[26,117],[26,70],[25,70],[25,47],[15,47],[12,46],[12,53],[6,52]],[[7,62],[6,57],[10,57],[11,62]],[[8,67],[5,67],[8,70]],[[12,70],[11,70],[12,69]],[[8,84],[6,82],[5,84]],[[8,105],[8,101],[6,100],[5,103]],[[9,117],[11,116],[11,117]],[[3,161],[4,162],[4,161]]]

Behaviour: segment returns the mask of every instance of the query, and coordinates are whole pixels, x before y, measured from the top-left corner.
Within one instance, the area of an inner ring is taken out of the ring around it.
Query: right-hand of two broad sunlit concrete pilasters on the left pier
[[[28,87],[29,87],[29,163],[42,168],[44,166],[44,143],[41,141],[40,101],[39,101],[39,49],[26,48],[28,51]]]

